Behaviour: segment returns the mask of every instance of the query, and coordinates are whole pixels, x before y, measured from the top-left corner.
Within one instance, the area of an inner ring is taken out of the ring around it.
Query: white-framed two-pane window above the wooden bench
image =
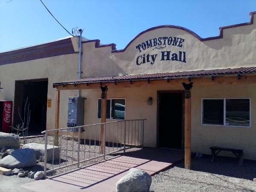
[[[202,98],[202,124],[251,126],[250,98]]]

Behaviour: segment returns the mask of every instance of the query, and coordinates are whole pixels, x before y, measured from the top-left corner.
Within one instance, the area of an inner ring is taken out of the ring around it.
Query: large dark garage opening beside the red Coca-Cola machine
[[[20,108],[23,118],[24,106],[28,99],[31,110],[28,134],[37,135],[46,130],[47,90],[48,79],[15,81],[14,126],[21,123],[18,109]]]

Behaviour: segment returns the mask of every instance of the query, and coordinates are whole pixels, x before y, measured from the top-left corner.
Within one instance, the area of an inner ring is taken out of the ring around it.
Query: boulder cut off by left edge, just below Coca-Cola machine
[[[20,148],[20,139],[16,134],[0,132],[0,149]]]

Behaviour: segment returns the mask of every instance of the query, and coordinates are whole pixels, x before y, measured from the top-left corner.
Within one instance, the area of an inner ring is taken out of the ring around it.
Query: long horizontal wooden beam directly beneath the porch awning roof
[[[169,85],[178,85],[182,82],[189,83],[188,78],[180,78],[180,79],[170,79]],[[193,77],[191,79],[193,84],[196,85],[218,85],[218,84],[256,84],[256,76],[255,75],[243,75],[241,79],[238,79],[237,76],[214,76],[214,81],[212,81],[212,77]],[[150,84],[166,84],[168,79],[161,80],[152,80]],[[109,88],[129,88],[129,87],[142,87],[148,84],[147,81],[123,81],[118,82],[116,85],[114,82],[106,82],[102,83],[102,86],[108,86]],[[88,85],[88,86],[87,86]],[[55,87],[58,90],[79,90],[79,89],[99,89],[99,83],[90,83],[90,84],[77,84],[76,87],[74,85],[58,85]]]

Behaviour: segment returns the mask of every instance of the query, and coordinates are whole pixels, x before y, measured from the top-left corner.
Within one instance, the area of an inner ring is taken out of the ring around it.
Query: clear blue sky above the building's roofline
[[[64,38],[39,0],[0,0],[0,52]],[[249,21],[256,0],[43,0],[69,31],[124,48],[145,29],[158,25],[186,27],[199,36],[216,36],[218,27]]]

